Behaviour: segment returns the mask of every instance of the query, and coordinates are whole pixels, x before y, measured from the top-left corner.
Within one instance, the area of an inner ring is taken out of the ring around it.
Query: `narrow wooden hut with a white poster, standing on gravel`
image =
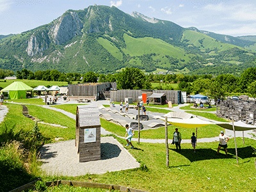
[[[96,106],[77,106],[76,147],[79,162],[100,160],[100,117]]]

